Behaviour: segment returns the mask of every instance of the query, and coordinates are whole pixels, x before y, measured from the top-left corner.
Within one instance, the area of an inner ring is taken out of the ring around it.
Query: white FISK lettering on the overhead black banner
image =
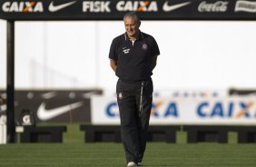
[[[83,2],[83,12],[100,13],[108,12],[110,13],[110,1],[84,1]]]

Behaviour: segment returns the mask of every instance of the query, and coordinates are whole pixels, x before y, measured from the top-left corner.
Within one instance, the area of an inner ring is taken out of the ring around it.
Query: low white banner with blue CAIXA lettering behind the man
[[[116,99],[93,97],[93,124],[120,124]],[[154,98],[150,124],[255,125],[254,97]]]

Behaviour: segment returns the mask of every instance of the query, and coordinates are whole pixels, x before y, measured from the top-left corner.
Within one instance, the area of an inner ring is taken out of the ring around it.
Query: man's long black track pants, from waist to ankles
[[[140,82],[119,79],[116,94],[126,161],[142,162],[153,100],[152,79]]]

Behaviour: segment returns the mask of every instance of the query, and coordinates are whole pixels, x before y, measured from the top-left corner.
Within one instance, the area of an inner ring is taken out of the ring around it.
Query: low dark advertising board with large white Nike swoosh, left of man
[[[90,98],[94,94],[102,94],[102,90],[16,90],[15,122],[24,120],[23,112],[34,114],[36,123],[90,123]],[[6,98],[4,90],[0,91]],[[1,105],[0,115],[6,114],[6,104]]]

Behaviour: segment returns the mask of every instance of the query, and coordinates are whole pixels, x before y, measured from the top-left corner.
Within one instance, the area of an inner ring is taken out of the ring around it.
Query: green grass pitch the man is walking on
[[[74,125],[73,138],[64,133],[64,143],[15,143],[0,145],[0,167],[94,167],[126,166],[121,143],[84,143],[84,133]],[[71,132],[68,130],[68,132]],[[148,142],[145,167],[255,167],[256,144],[237,144],[230,133],[227,144],[186,143],[178,133],[177,143]]]

